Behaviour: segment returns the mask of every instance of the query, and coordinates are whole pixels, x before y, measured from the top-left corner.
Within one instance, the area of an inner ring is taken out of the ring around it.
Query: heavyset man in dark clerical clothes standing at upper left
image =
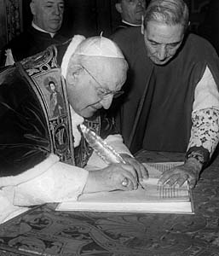
[[[3,47],[1,66],[14,64],[14,61],[35,55],[51,44],[66,41],[66,38],[59,34],[64,0],[32,0],[30,8],[33,15],[32,26]]]

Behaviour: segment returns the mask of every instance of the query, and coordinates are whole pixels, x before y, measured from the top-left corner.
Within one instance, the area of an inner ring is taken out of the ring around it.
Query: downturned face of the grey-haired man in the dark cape
[[[184,29],[180,24],[170,26],[157,21],[147,22],[144,40],[148,57],[154,64],[166,64],[176,55],[183,37]]]

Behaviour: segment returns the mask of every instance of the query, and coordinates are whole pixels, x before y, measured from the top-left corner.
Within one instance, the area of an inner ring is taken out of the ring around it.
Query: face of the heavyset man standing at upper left
[[[34,23],[47,32],[55,33],[61,28],[64,0],[32,0]]]

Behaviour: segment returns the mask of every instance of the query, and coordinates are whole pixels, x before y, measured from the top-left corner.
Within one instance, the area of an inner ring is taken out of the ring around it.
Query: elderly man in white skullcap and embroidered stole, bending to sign
[[[124,56],[111,40],[75,36],[1,73],[1,221],[6,213],[20,210],[17,206],[136,189],[137,179],[147,177],[112,119],[101,115],[101,108],[109,108],[119,93],[126,72]],[[80,124],[106,139],[127,164],[101,160],[78,130]]]

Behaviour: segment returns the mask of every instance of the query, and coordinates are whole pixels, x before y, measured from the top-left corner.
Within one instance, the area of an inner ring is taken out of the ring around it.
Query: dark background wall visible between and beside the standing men
[[[197,32],[199,24],[205,19],[209,1],[185,0],[191,14],[191,31]],[[30,0],[0,1],[0,50],[11,38],[31,24],[29,4]],[[66,0],[61,32],[67,37],[74,34],[89,37],[103,32],[103,36],[108,37],[118,26],[119,20],[115,0]]]

